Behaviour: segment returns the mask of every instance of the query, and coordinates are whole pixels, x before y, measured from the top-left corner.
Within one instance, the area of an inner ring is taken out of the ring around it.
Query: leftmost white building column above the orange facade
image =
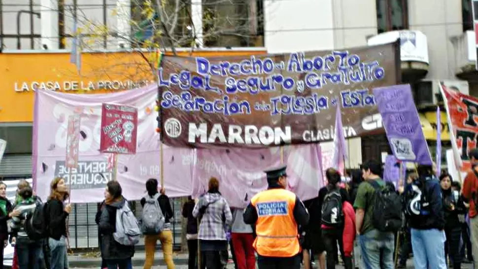
[[[41,44],[48,49],[58,49],[58,1],[41,0]]]

